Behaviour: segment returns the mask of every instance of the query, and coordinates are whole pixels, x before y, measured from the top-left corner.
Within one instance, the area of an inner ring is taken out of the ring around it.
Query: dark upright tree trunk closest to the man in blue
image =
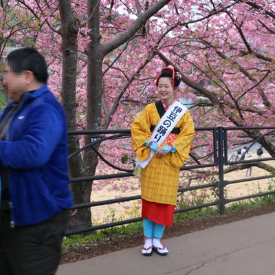
[[[79,20],[72,12],[70,0],[59,0],[59,12],[61,15],[61,34],[63,47],[63,72],[62,72],[62,102],[67,115],[69,130],[76,129],[76,72],[78,61],[77,34]],[[73,153],[79,148],[78,136],[69,136],[69,153]],[[71,177],[81,177],[84,173],[83,160],[78,154],[69,159]],[[76,204],[90,201],[85,196],[86,184],[79,182],[71,185]],[[90,191],[88,191],[90,192]],[[88,210],[78,210],[69,223],[70,228],[78,228],[81,225],[91,224],[91,212]]]

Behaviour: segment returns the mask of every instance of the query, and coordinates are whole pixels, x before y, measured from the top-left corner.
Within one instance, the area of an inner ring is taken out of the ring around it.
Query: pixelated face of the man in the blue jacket
[[[27,85],[26,71],[14,73],[8,64],[3,70],[3,86],[7,91],[8,100],[13,99],[16,102],[21,100],[21,96],[26,91]]]

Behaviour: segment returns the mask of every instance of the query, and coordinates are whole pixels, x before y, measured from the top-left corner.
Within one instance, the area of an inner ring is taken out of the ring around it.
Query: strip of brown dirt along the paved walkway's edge
[[[182,223],[176,223],[172,228],[166,228],[164,232],[164,239],[204,230],[216,225],[223,225],[232,221],[248,219],[250,217],[259,216],[261,214],[267,214],[274,211],[275,204],[268,204],[259,208],[225,212],[223,216],[217,215],[187,219]],[[69,248],[63,252],[61,264],[89,259],[102,254],[124,250],[126,248],[135,248],[139,245],[142,245],[142,234],[132,234],[131,236],[124,236],[122,239],[108,238],[106,241],[80,245],[78,248]]]

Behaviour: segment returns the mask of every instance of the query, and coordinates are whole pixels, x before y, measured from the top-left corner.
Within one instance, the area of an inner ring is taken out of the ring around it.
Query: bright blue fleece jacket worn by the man
[[[67,123],[63,107],[47,85],[26,93],[20,104],[5,141],[0,141],[0,165],[10,171],[14,225],[31,225],[74,204],[69,190]]]

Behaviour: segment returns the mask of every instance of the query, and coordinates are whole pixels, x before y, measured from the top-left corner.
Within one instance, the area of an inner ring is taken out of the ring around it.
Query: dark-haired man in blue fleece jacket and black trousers
[[[27,47],[3,71],[10,102],[0,114],[0,273],[55,274],[67,228],[67,123],[47,87],[47,65]]]

